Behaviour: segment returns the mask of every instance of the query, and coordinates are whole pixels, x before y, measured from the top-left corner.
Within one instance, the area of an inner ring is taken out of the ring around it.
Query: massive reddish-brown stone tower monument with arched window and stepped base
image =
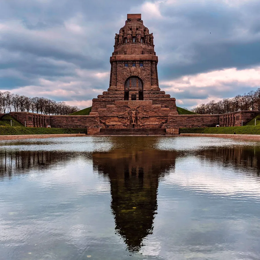
[[[109,128],[161,128],[177,115],[175,98],[159,88],[154,36],[141,14],[127,14],[115,36],[109,88],[92,100],[90,115]]]

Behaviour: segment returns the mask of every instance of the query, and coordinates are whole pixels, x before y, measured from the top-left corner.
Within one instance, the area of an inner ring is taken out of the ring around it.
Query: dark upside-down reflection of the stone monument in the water
[[[129,251],[140,250],[152,234],[159,179],[176,157],[175,152],[138,148],[93,154],[94,168],[109,177],[116,231]]]

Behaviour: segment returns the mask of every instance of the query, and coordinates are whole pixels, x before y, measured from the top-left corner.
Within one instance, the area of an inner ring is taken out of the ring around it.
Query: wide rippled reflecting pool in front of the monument
[[[0,259],[260,259],[260,142],[0,142]]]

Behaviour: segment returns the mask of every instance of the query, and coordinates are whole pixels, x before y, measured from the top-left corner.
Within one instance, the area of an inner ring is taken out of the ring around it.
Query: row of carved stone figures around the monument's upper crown
[[[116,36],[115,36],[115,45],[114,45],[115,48],[123,44],[123,37],[124,37],[124,34],[120,30],[119,34],[116,34]],[[140,28],[138,28],[138,30],[136,31],[136,42],[141,43],[141,38],[142,38],[141,37],[141,31],[140,31]],[[146,29],[144,31],[144,43],[154,47],[153,38],[154,38],[153,33],[149,34],[148,29]],[[128,28],[128,30],[127,30],[127,44],[130,44],[130,43],[132,43],[132,31]]]

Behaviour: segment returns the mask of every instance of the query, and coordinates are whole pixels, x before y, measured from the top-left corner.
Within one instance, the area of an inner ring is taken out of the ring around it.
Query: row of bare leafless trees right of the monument
[[[260,88],[247,94],[237,95],[232,99],[214,100],[191,109],[197,114],[225,114],[241,110],[260,110]]]

